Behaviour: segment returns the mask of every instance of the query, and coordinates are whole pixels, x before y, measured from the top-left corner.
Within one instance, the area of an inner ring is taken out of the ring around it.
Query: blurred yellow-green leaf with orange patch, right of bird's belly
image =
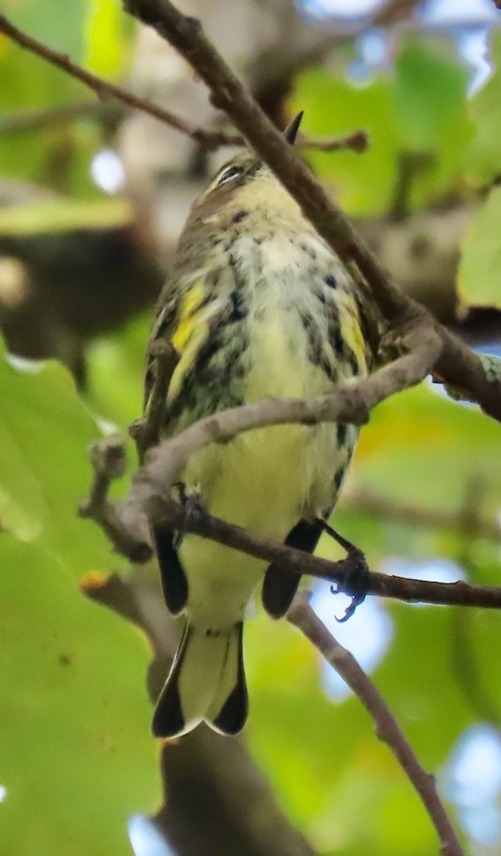
[[[474,478],[486,486],[485,511],[493,517],[501,495],[500,441],[501,426],[478,407],[421,383],[371,413],[357,450],[357,482],[392,501],[459,511]]]

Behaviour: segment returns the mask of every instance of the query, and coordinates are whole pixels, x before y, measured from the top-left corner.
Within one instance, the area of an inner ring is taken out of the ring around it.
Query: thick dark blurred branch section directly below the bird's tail
[[[195,728],[165,744],[162,776],[156,823],[178,856],[315,856],[243,740]]]

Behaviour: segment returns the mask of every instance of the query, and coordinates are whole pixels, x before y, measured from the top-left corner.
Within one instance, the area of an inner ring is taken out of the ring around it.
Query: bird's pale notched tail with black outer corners
[[[205,720],[220,734],[238,734],[248,698],[242,621],[229,630],[199,631],[186,622],[174,663],[156,703],[156,737],[179,737]]]

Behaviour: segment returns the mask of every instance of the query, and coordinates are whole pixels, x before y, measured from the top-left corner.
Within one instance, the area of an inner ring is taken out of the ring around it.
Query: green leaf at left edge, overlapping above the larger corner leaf
[[[0,520],[23,541],[37,539],[79,578],[121,562],[94,524],[77,517],[91,483],[87,447],[97,425],[56,362],[11,366],[0,354]]]

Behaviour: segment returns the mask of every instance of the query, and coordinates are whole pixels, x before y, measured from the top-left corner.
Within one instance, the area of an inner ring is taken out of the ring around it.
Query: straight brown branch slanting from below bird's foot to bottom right
[[[437,830],[444,856],[464,856],[463,848],[445,811],[437,791],[435,778],[422,769],[416,754],[398,727],[377,687],[368,678],[350,651],[346,651],[316,617],[308,601],[308,594],[300,592],[292,603],[287,618],[301,630],[315,648],[360,698],[375,722],[376,734],[393,752],[398,763],[416,788],[427,813]]]

